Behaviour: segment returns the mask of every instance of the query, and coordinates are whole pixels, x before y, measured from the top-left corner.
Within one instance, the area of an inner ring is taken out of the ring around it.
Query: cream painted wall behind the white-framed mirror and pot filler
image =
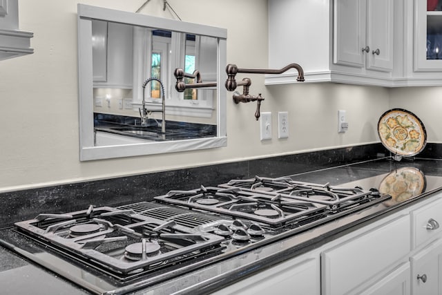
[[[227,28],[228,63],[267,68],[267,0],[168,2],[183,21]],[[144,0],[81,3],[135,12]],[[151,0],[142,13],[173,18],[162,8],[162,0]],[[378,117],[390,106],[390,91],[385,88],[266,87],[262,75],[250,75],[251,94],[265,97],[261,111],[272,112],[272,140],[260,142],[259,123],[253,117],[256,104],[236,105],[229,93],[227,147],[79,162],[77,0],[20,0],[19,17],[20,29],[35,34],[31,39],[35,53],[0,61],[0,191],[377,142]],[[347,111],[349,131],[345,134],[337,133],[338,109]],[[278,111],[289,111],[287,140],[278,140]]]

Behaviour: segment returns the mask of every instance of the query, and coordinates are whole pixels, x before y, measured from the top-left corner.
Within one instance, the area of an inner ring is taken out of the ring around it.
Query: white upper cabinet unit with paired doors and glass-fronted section
[[[269,0],[269,68],[291,63],[306,82],[440,86],[442,1]],[[296,75],[267,75],[266,84]]]

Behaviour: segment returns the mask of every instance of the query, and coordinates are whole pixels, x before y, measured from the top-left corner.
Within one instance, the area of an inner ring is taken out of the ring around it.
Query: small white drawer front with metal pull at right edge
[[[412,211],[412,246],[419,247],[442,231],[442,198]]]

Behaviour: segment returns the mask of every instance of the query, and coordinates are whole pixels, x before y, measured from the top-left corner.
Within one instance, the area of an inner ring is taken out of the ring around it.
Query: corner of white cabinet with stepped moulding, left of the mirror
[[[33,36],[19,30],[18,0],[0,0],[0,60],[34,53],[30,48]]]

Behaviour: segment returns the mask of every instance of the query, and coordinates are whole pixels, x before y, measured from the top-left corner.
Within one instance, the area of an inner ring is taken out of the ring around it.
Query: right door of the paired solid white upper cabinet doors
[[[367,69],[393,70],[394,0],[367,1]]]

